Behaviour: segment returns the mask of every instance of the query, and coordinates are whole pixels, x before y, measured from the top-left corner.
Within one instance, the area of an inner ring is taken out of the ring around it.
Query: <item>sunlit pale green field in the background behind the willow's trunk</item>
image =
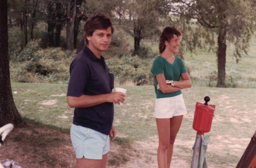
[[[235,88],[256,88],[256,36],[253,35],[248,48],[248,55],[241,52],[242,58],[236,63],[233,56],[235,47],[227,42],[226,52],[226,85]],[[158,53],[158,43],[143,40],[154,53]],[[184,51],[184,62],[190,70],[190,78],[194,86],[215,87],[217,83],[216,52],[207,49],[196,49],[196,53]],[[153,57],[156,57],[156,54]],[[150,55],[151,56],[151,55]],[[151,67],[149,67],[150,69]]]

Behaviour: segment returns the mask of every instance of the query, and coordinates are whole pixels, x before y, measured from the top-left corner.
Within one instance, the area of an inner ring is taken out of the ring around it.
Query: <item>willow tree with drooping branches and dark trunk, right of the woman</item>
[[[195,35],[202,32],[195,42],[214,47],[213,36],[217,35],[218,79],[217,87],[225,87],[227,41],[235,45],[234,56],[238,62],[241,51],[247,54],[249,40],[255,28],[255,9],[250,0],[173,0],[172,12],[181,17],[196,19]],[[190,29],[192,29],[190,27]],[[190,36],[193,36],[191,33]],[[189,44],[188,44],[189,45]],[[201,44],[198,44],[201,46]]]

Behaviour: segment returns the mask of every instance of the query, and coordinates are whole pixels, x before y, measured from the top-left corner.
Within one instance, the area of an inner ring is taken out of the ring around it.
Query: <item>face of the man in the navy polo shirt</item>
[[[111,42],[111,27],[108,27],[105,30],[96,29],[92,36],[86,36],[89,41],[89,46],[92,50],[97,52],[106,51]]]

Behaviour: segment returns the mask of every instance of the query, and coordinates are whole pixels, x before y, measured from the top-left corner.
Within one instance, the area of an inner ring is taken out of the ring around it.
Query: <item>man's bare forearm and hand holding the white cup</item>
[[[101,95],[82,95],[80,97],[67,96],[68,106],[70,108],[74,107],[90,107],[96,106],[101,103],[109,102],[109,103],[118,103],[124,102],[125,94],[121,92],[111,92],[108,94]]]

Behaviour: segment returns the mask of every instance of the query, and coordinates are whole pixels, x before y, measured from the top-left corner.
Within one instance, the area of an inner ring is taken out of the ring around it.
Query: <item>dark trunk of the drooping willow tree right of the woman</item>
[[[225,28],[220,28],[218,35],[218,78],[217,87],[225,87],[226,79],[226,33]]]

